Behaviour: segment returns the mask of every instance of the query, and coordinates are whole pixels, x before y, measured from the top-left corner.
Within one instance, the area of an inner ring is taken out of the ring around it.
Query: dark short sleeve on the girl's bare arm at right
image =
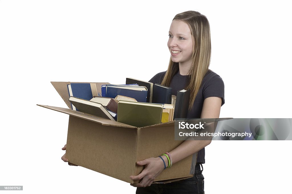
[[[224,82],[217,74],[209,79],[203,88],[204,99],[208,97],[220,97],[222,98],[222,104],[225,103],[224,99]]]

